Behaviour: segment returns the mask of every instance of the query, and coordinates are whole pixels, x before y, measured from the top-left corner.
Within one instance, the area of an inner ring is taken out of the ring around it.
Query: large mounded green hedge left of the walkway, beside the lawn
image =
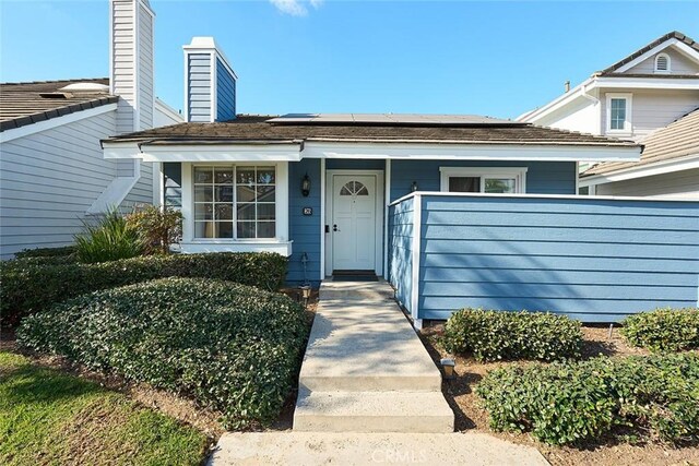
[[[228,428],[275,419],[308,334],[279,292],[214,279],[164,278],[96,291],[27,316],[19,343],[192,396]]]

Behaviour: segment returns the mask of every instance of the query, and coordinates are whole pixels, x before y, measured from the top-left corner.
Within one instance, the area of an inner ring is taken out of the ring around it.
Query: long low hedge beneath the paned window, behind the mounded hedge
[[[86,292],[164,277],[217,278],[276,290],[287,261],[275,253],[149,255],[95,264],[55,263],[61,258],[7,261],[0,270],[0,315],[23,316]]]

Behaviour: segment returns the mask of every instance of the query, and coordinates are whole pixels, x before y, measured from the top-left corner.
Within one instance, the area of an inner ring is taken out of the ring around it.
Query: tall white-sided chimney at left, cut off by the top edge
[[[117,132],[153,128],[153,23],[149,0],[109,0],[109,92],[118,95]]]

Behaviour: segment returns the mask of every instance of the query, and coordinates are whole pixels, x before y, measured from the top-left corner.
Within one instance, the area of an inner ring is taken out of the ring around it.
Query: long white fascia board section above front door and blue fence
[[[638,162],[640,146],[321,143],[306,142],[304,158],[414,159],[414,160],[542,160]]]

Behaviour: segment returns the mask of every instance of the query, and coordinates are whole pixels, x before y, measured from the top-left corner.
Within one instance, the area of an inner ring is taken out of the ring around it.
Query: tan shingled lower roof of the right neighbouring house
[[[608,162],[587,170],[582,177],[609,175],[615,171],[643,167],[660,162],[699,156],[699,108],[649,134],[640,162]]]

